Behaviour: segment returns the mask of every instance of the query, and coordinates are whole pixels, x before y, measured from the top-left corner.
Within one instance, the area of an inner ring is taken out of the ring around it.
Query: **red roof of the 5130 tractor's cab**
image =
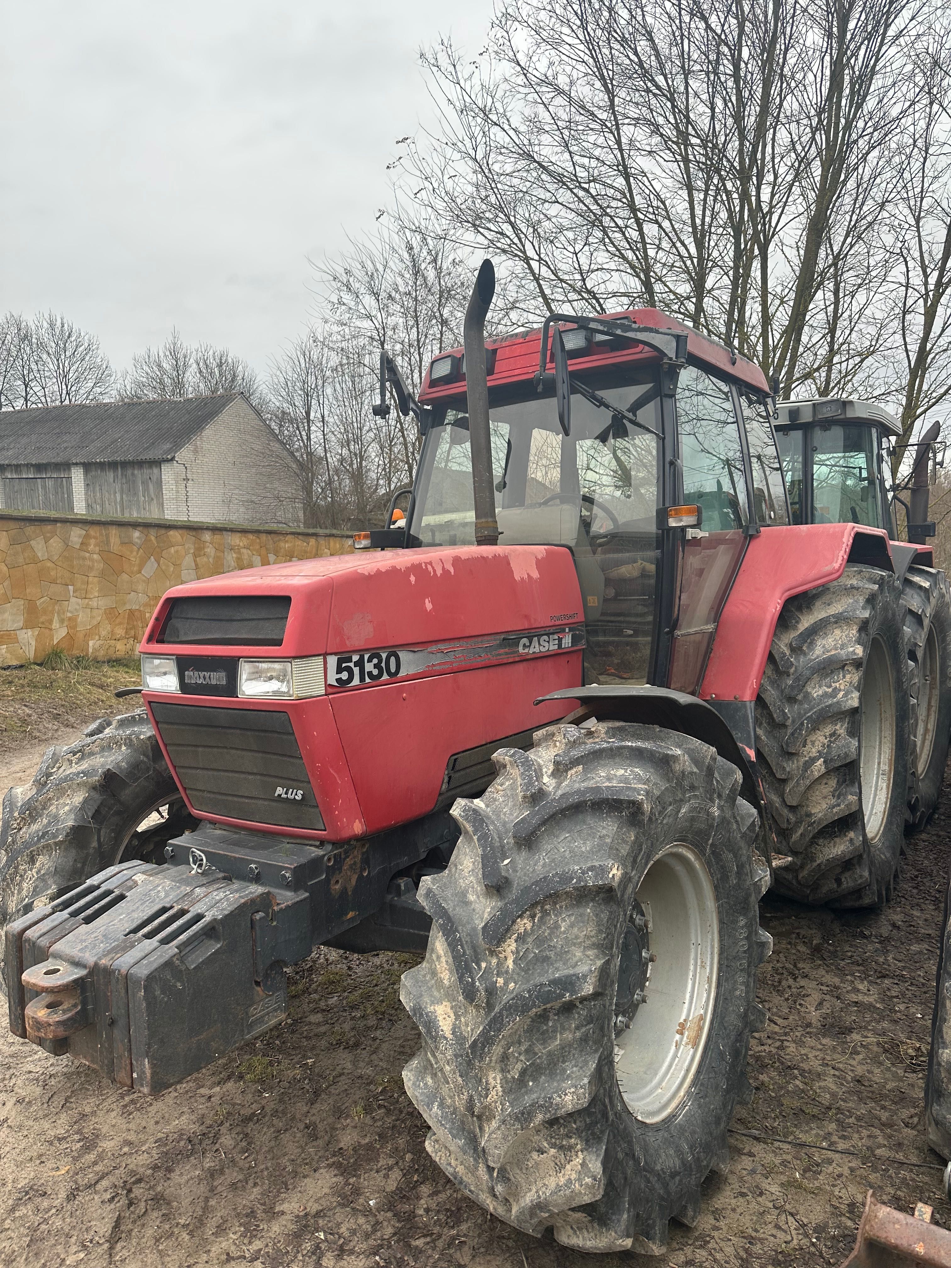
[[[586,370],[607,369],[630,361],[657,359],[657,353],[637,342],[637,327],[647,326],[653,330],[685,332],[687,335],[687,355],[691,361],[709,368],[714,373],[734,379],[741,387],[749,388],[757,394],[768,396],[770,393],[770,384],[758,365],[744,356],[739,356],[732,349],[727,347],[725,344],[718,344],[716,340],[702,335],[699,330],[685,326],[683,322],[677,321],[675,317],[668,317],[667,313],[661,312],[658,308],[628,308],[624,312],[601,313],[600,316],[610,321],[629,321],[633,326],[630,341],[612,340],[605,349],[597,350],[592,345],[592,349],[585,355],[572,356],[569,363],[572,370],[582,368]],[[566,322],[563,328],[571,327]],[[487,358],[487,368],[491,372],[488,375],[489,387],[530,382],[538,372],[540,349],[540,328],[525,331],[511,339],[488,340],[486,350],[489,354]],[[495,356],[491,355],[492,353],[495,353]],[[456,373],[453,375],[451,382],[431,385],[430,370],[427,370],[422,389],[420,391],[420,401],[425,404],[444,401],[449,397],[458,397],[465,391],[462,347],[440,353],[439,356],[434,358],[432,364],[449,356],[455,358],[459,363]],[[552,364],[550,350],[549,364]]]

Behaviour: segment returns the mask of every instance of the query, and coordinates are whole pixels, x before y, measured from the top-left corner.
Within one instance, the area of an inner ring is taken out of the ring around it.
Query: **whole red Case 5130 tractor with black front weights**
[[[8,795],[14,1033],[156,1092],[287,1012],[318,943],[425,952],[406,1088],[500,1219],[658,1253],[729,1161],[757,904],[883,902],[909,787],[902,585],[790,525],[761,370],[653,309],[465,346],[404,527],[171,590],[145,711]]]

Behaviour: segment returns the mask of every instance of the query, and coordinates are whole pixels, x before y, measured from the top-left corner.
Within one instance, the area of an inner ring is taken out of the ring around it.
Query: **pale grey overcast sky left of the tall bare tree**
[[[53,308],[113,364],[165,339],[259,369],[297,333],[307,257],[387,202],[431,118],[421,43],[491,0],[0,0],[0,312]]]

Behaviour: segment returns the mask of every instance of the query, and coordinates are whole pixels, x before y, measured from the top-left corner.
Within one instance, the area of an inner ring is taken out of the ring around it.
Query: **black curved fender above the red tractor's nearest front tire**
[[[715,748],[720,757],[743,776],[743,796],[760,812],[763,825],[761,839],[772,877],[772,834],[767,827],[766,801],[756,765],[756,724],[752,700],[700,700],[670,687],[635,687],[624,683],[602,683],[564,687],[535,704],[548,700],[577,700],[581,708],[563,721],[581,723],[586,718],[616,721],[639,721],[664,727],[682,735],[692,735]]]

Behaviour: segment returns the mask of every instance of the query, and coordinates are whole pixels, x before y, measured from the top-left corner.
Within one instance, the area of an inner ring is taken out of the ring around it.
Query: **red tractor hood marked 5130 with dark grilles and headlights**
[[[583,648],[564,547],[374,552],[170,590],[142,699],[198,818],[350,841],[478,795]]]

